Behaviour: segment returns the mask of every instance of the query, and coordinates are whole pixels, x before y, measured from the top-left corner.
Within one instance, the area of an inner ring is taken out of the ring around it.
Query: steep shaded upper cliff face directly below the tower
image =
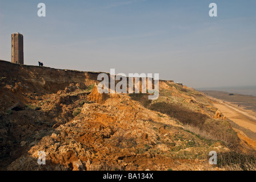
[[[15,85],[10,85],[13,91],[37,92],[37,93],[57,93],[71,83],[82,83],[86,85],[97,82],[99,73],[80,72],[64,69],[53,69],[47,67],[37,67],[31,65],[12,64],[1,61],[0,77],[5,82],[18,81]],[[19,88],[18,88],[19,87]]]

